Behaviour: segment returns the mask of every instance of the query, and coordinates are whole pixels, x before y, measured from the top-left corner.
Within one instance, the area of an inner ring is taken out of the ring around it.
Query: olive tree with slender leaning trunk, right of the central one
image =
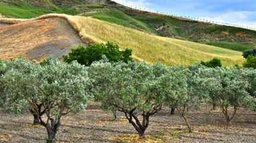
[[[192,132],[186,116],[189,108],[201,108],[203,99],[207,96],[202,88],[204,82],[199,72],[189,70],[183,66],[172,66],[161,76],[160,88],[164,94],[164,103],[170,108],[176,108],[184,118],[189,132]]]

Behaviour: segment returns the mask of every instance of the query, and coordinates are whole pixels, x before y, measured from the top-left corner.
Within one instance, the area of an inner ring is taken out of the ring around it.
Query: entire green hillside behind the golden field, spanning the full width
[[[69,15],[79,13],[82,16],[93,17],[162,37],[215,45],[235,51],[244,51],[256,46],[256,31],[136,11],[111,1],[102,5],[84,0],[0,0],[0,13],[7,17],[17,18],[31,18],[45,13]]]

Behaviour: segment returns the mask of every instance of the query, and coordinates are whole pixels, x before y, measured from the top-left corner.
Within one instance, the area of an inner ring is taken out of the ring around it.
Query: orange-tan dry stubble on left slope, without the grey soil
[[[10,59],[23,56],[30,59],[31,57],[28,57],[27,54],[36,53],[36,51],[33,51],[35,47],[49,43],[53,39],[55,41],[69,39],[68,36],[56,32],[55,25],[58,24],[59,21],[57,20],[44,19],[39,21],[25,21],[1,28],[0,58]],[[51,45],[57,45],[57,42]],[[47,54],[47,51],[38,55],[36,59],[43,59],[43,54]]]

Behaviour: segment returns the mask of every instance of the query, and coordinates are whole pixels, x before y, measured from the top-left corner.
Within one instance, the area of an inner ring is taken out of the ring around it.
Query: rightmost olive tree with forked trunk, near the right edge
[[[215,72],[217,74],[211,74],[214,77],[207,80],[208,90],[215,90],[215,97],[227,120],[227,126],[229,126],[239,108],[253,108],[255,98],[247,92],[249,83],[243,76],[245,74],[243,69],[218,68]]]

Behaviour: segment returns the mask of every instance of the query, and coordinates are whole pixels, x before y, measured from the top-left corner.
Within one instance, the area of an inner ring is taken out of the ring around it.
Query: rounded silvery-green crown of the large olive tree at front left
[[[41,66],[38,79],[36,86],[42,95],[40,100],[54,107],[52,114],[55,116],[65,110],[79,112],[86,107],[91,82],[83,65],[47,59]]]

